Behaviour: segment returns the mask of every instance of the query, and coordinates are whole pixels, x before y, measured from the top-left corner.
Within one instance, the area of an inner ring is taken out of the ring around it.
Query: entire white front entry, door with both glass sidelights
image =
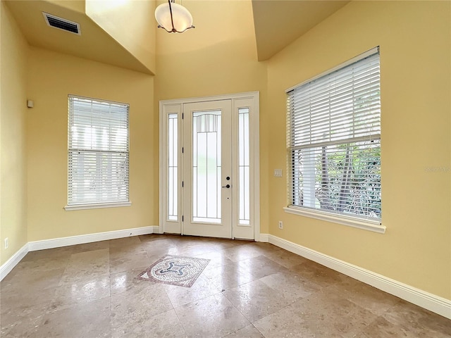
[[[160,101],[161,233],[258,240],[258,101]]]

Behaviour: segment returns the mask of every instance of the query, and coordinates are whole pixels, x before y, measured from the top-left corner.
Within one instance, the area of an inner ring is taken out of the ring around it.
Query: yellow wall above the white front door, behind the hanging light
[[[262,123],[268,113],[266,65],[257,62],[250,1],[183,1],[195,28],[156,32],[155,109],[159,100],[259,91]],[[214,29],[212,29],[214,27]],[[261,125],[261,128],[264,128]],[[157,134],[157,132],[156,132]],[[263,146],[266,139],[261,141]],[[268,161],[260,152],[261,163]],[[261,165],[261,230],[267,233],[267,173]]]

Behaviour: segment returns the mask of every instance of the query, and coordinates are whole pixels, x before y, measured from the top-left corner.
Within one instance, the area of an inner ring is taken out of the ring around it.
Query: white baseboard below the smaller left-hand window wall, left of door
[[[53,239],[44,239],[42,241],[28,242],[29,251],[59,248],[75,244],[85,244],[92,242],[106,241],[140,234],[154,234],[159,232],[159,227],[135,227],[132,229],[97,232],[94,234],[80,234],[78,236],[60,237]]]

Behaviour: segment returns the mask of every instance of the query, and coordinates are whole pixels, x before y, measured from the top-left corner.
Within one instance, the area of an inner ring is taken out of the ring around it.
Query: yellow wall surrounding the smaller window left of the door
[[[27,118],[28,241],[158,225],[154,78],[82,58],[30,49]],[[132,206],[64,211],[68,94],[130,104]]]

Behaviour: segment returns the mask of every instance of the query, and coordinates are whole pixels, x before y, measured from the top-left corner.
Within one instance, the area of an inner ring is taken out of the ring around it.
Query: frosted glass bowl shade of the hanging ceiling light
[[[174,2],[169,4],[168,1],[159,5],[155,10],[155,18],[159,27],[164,28],[168,32],[183,33],[187,29],[194,28],[191,13],[182,5]]]

